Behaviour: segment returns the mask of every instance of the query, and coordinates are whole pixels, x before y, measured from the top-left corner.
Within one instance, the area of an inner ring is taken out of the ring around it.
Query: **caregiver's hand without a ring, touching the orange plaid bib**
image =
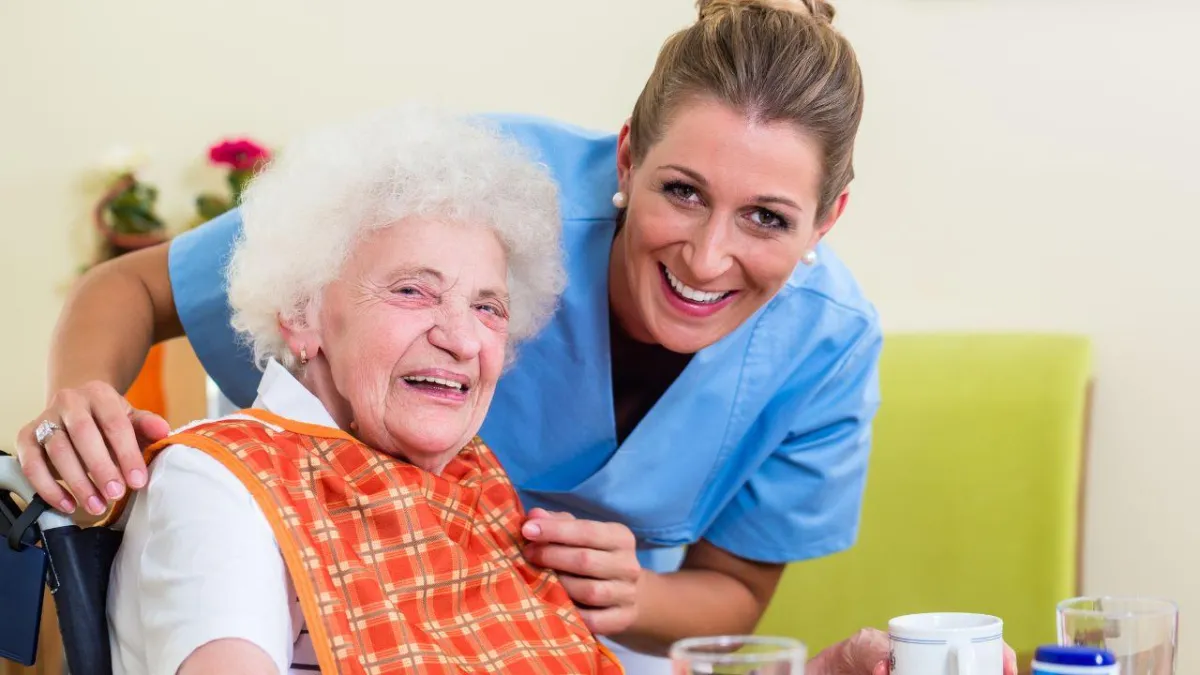
[[[535,508],[521,533],[529,539],[526,558],[558,572],[593,633],[614,635],[632,626],[642,566],[629,527]]]

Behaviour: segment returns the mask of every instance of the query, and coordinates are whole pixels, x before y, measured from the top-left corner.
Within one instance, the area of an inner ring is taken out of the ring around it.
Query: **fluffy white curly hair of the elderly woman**
[[[355,240],[409,216],[491,227],[508,253],[509,356],[565,285],[558,190],[545,166],[480,119],[402,106],[288,144],[247,187],[227,269],[233,327],[259,368],[295,357],[302,323]]]

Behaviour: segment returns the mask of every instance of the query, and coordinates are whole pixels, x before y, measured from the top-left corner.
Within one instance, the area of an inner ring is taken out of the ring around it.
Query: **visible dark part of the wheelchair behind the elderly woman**
[[[22,507],[14,496],[25,506]],[[42,584],[49,589],[62,633],[67,674],[112,675],[106,603],[109,571],[120,543],[121,532],[118,530],[80,527],[50,509],[25,480],[17,459],[0,453],[0,546],[7,546],[13,552],[40,546],[47,560],[42,580],[0,577],[0,598],[41,598]],[[41,601],[37,603],[40,605]],[[16,626],[18,620],[6,616],[7,611],[7,608],[0,607],[0,632],[11,635],[12,632],[29,631],[28,625]],[[32,640],[32,653],[36,655],[36,633],[28,638]],[[0,651],[0,659],[34,665],[31,655],[29,658],[14,656]]]

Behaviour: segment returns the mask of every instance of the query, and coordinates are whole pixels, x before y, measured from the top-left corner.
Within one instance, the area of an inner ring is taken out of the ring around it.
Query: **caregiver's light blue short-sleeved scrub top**
[[[520,347],[480,431],[527,508],[619,521],[642,565],[676,569],[701,538],[790,562],[848,548],[878,406],[878,318],[826,245],[742,327],[698,352],[617,444],[608,345],[608,252],[617,137],[491,115],[560,186],[568,287]],[[175,238],[175,306],[205,370],[247,406],[260,377],[229,325],[223,270],[238,211]]]

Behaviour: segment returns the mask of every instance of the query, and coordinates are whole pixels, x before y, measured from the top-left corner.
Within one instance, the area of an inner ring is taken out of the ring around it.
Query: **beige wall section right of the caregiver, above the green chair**
[[[869,0],[845,19],[870,89],[839,250],[888,328],[1093,336],[1085,591],[1200,611],[1200,6]],[[1200,670],[1195,625],[1180,673]]]

